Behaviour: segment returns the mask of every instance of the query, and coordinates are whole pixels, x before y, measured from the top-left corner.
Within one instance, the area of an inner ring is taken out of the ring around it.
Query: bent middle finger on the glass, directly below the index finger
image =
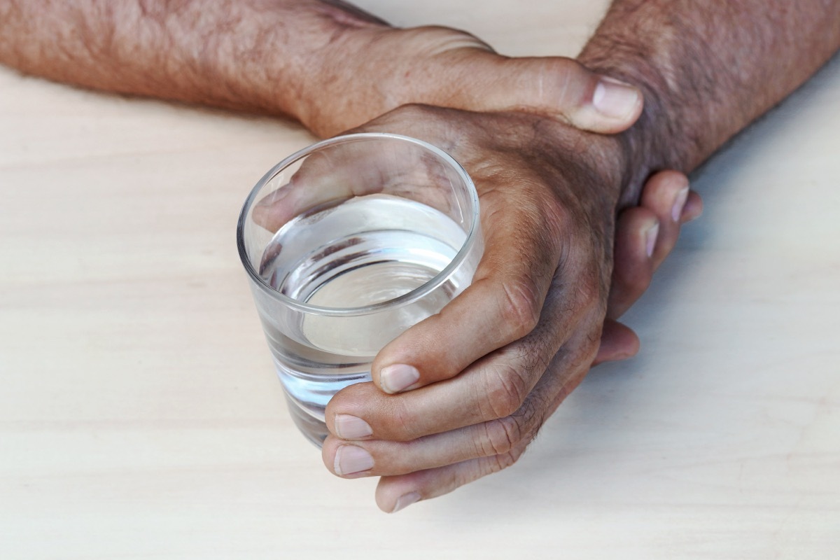
[[[476,361],[451,379],[398,395],[383,393],[370,383],[344,388],[325,411],[329,431],[349,441],[410,442],[515,416],[521,428],[518,433],[529,433],[530,416],[521,412],[533,409],[526,401],[547,377],[549,364],[557,373],[548,377],[564,381],[570,372],[588,369],[596,357],[603,322],[600,307],[575,321],[573,334],[560,349],[557,333],[564,333],[567,322],[554,318],[564,306],[563,300],[552,298],[538,328],[527,337]]]

